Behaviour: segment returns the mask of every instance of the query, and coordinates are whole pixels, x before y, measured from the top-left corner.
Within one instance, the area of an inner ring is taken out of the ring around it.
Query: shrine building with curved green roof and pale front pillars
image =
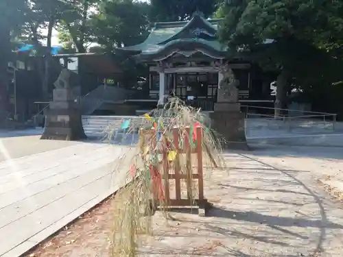
[[[193,107],[213,110],[224,68],[239,80],[239,102],[269,106],[273,100],[263,72],[248,56],[230,54],[217,38],[220,19],[204,19],[193,14],[189,21],[156,23],[147,39],[139,45],[122,47],[137,62],[148,67],[149,93],[133,102],[163,104],[175,95]],[[143,99],[144,98],[144,99]]]

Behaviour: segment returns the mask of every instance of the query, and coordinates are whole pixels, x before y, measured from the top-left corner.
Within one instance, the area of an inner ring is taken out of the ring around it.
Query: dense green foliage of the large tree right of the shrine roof
[[[226,1],[217,11],[217,16],[224,17],[219,36],[236,50],[272,52],[276,66],[293,65],[307,48],[314,54],[312,46],[329,42],[338,31],[342,34],[343,19],[336,5],[335,0]],[[257,47],[269,39],[276,47]]]

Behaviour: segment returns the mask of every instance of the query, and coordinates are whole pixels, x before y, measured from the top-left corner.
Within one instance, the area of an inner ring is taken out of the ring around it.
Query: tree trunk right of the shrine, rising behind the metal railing
[[[276,100],[275,100],[275,106],[274,106],[275,118],[281,117],[283,113],[281,109],[285,107],[285,100],[287,97],[286,86],[287,86],[288,75],[289,75],[289,72],[287,71],[287,69],[283,68],[276,80]]]

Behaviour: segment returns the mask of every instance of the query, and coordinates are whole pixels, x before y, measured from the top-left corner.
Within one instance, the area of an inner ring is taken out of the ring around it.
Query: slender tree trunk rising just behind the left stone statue
[[[47,49],[45,52],[45,72],[44,72],[44,80],[43,80],[43,99],[44,101],[49,101],[49,79],[50,79],[50,56],[51,56],[51,37],[52,37],[52,29],[54,28],[54,19],[49,21],[48,30],[47,30]]]

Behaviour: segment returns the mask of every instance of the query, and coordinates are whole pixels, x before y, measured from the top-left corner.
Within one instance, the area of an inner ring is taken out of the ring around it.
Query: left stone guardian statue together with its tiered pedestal
[[[69,79],[71,73],[62,69],[54,83],[53,101],[45,118],[45,130],[40,139],[80,140],[87,138],[82,127],[82,116],[73,97]]]

